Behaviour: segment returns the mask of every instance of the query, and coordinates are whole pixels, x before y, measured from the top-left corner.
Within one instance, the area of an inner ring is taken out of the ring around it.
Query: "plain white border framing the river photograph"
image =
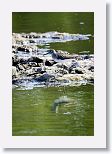
[[[12,12],[94,12],[94,136],[12,136]],[[106,4],[90,0],[11,0],[0,4],[0,144],[3,148],[106,148]]]

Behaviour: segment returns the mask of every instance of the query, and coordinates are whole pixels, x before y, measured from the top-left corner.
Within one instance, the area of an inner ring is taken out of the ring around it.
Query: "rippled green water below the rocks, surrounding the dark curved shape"
[[[60,96],[68,96],[74,101],[62,104],[55,113],[52,104]],[[93,97],[92,85],[13,89],[13,135],[94,135]]]

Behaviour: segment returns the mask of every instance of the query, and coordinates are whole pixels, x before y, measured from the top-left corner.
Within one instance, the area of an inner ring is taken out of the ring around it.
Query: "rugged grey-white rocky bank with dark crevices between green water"
[[[89,37],[91,35],[58,32],[13,33],[13,85],[41,87],[94,83],[94,55],[42,48],[51,42],[80,41]]]

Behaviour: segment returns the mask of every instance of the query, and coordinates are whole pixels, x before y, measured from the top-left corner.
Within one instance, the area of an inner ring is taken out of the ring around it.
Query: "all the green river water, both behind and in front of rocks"
[[[12,14],[12,32],[67,32],[94,35],[93,13],[20,13]],[[47,48],[45,46],[44,48]],[[94,53],[94,39],[51,43],[52,49],[81,54]],[[67,96],[73,101],[51,110],[55,99]],[[41,87],[12,89],[13,136],[93,136],[94,86]]]

